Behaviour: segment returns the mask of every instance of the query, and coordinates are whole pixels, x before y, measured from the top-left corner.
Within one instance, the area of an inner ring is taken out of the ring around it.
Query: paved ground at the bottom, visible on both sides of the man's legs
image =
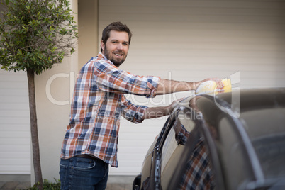
[[[131,190],[132,184],[107,184],[106,190]],[[0,190],[16,190],[16,189],[27,189],[30,187],[30,182],[1,182]]]

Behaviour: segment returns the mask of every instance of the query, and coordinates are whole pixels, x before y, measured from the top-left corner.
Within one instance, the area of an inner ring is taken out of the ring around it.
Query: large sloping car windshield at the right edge
[[[266,178],[285,176],[284,116],[285,108],[245,111],[240,115]]]

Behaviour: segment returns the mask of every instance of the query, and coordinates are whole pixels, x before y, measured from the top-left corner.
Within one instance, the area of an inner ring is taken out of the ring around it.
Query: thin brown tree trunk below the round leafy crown
[[[33,145],[33,167],[35,172],[35,183],[38,189],[43,189],[43,177],[40,167],[40,146],[38,143],[38,123],[37,112],[35,110],[35,72],[33,69],[27,70],[28,76],[28,98],[30,103],[30,133]]]

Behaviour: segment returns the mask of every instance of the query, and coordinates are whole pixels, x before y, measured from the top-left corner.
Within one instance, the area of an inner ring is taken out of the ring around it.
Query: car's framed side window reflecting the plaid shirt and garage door
[[[213,189],[211,161],[199,133],[201,116],[180,106],[171,116],[153,154],[146,189]]]

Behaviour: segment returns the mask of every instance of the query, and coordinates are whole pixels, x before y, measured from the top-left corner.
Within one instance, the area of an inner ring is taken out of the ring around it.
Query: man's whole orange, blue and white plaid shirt
[[[92,57],[77,75],[61,157],[89,154],[118,167],[120,116],[141,123],[147,108],[132,104],[123,94],[154,97],[159,81],[119,70],[101,53]]]

